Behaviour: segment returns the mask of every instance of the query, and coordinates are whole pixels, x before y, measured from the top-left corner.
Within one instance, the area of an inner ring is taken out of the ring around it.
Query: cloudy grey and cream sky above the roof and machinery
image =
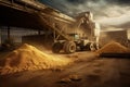
[[[130,0],[39,0],[60,11],[76,15],[91,11],[103,26],[130,28]]]

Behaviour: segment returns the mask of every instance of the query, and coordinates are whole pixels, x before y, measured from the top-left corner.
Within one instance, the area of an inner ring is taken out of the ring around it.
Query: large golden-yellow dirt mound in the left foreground
[[[6,59],[1,62],[4,63],[0,71],[1,74],[9,74],[25,70],[56,69],[69,64],[72,60],[54,58],[25,44],[6,55]]]

